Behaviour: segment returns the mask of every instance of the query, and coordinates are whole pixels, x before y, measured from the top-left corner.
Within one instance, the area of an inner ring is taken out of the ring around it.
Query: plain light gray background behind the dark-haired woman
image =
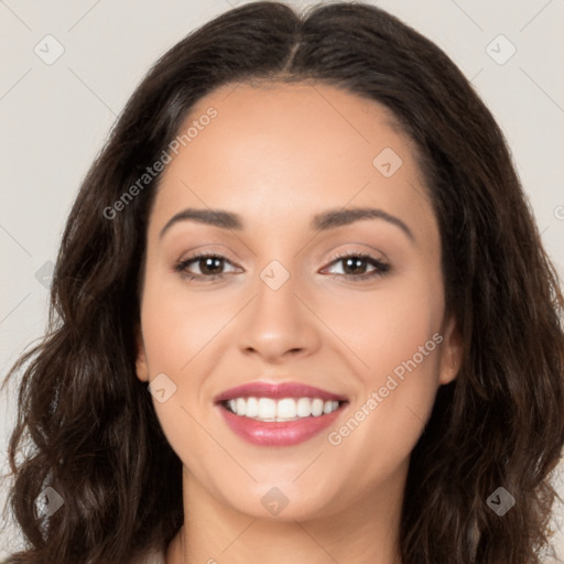
[[[35,274],[55,259],[79,183],[116,116],[162,53],[194,28],[242,3],[0,0],[2,378],[45,327],[48,276],[42,284]],[[562,276],[564,1],[372,3],[437,43],[471,79],[508,138],[543,241]],[[64,47],[51,65],[34,52],[39,45],[43,56],[55,53],[53,40],[44,40],[47,34]],[[496,40],[499,34],[510,43]],[[511,53],[511,44],[514,55],[499,64]],[[0,397],[2,465],[14,422],[14,392],[12,386]],[[564,494],[560,480],[558,490]],[[4,499],[6,485],[0,490],[2,505]],[[558,505],[557,527],[562,513]],[[563,538],[562,532],[556,534],[561,557]],[[19,543],[17,533],[7,530],[0,538],[0,556]]]

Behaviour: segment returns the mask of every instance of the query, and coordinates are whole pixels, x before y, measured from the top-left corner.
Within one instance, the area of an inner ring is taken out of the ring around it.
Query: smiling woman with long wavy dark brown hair
[[[441,50],[362,3],[230,10],[151,69],[74,205],[10,372],[8,562],[536,562],[563,305]]]

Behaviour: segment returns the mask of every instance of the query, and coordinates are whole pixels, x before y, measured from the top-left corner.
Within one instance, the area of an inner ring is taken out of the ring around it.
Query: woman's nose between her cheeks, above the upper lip
[[[239,325],[239,348],[245,355],[281,364],[318,349],[321,322],[296,286],[292,275],[278,289],[259,278],[256,296]]]

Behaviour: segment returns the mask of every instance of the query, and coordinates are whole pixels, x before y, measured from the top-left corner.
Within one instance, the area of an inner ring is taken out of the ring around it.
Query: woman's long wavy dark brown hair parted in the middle
[[[560,281],[505,137],[469,82],[434,43],[360,2],[231,9],[166,52],[127,102],[68,217],[48,329],[3,383],[21,372],[9,507],[25,549],[8,562],[132,563],[182,525],[182,463],[134,367],[161,174],[112,219],[107,209],[200,97],[271,80],[327,84],[390,109],[414,141],[440,225],[445,305],[464,352],[411,455],[403,564],[536,562],[550,547],[564,440]],[[34,505],[47,486],[64,499],[48,519]],[[516,499],[503,517],[487,505],[498,487]]]

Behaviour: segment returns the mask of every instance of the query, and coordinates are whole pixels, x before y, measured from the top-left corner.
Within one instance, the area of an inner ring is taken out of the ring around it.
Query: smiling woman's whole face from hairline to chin
[[[137,368],[158,378],[185,488],[281,520],[402,490],[459,347],[437,221],[390,118],[325,85],[230,85],[199,100],[172,145]]]

